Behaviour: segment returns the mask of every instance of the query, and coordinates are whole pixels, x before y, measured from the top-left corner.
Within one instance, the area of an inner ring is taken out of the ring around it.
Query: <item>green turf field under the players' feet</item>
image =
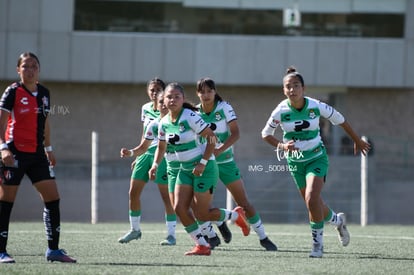
[[[142,224],[142,239],[119,244],[128,223],[62,223],[61,248],[76,264],[47,263],[42,223],[12,223],[8,252],[15,264],[0,274],[413,274],[414,226],[349,225],[351,242],[342,247],[331,226],[325,229],[322,259],[308,257],[311,238],[306,224],[266,224],[279,251],[266,252],[254,231],[243,237],[238,227],[230,244],[211,256],[184,256],[193,243],[177,226],[177,245],[160,246],[165,226]]]

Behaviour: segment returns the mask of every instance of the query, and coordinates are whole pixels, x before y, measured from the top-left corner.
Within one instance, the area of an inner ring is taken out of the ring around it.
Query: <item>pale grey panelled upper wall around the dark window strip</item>
[[[156,74],[181,83],[209,75],[223,85],[274,85],[293,64],[308,85],[414,86],[410,30],[408,39],[73,32],[74,1],[0,0],[0,5],[2,79],[15,77],[19,53],[33,51],[43,79],[50,81],[145,83]],[[26,20],[20,20],[23,10]]]

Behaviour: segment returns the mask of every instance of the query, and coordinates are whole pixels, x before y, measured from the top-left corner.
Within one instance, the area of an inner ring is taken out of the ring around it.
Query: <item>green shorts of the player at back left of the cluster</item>
[[[135,160],[134,169],[132,170],[131,179],[148,182],[148,171],[151,169],[153,161],[154,155],[151,154],[143,154],[137,157],[137,159]],[[157,184],[168,184],[167,164],[164,159],[158,166],[154,182]]]

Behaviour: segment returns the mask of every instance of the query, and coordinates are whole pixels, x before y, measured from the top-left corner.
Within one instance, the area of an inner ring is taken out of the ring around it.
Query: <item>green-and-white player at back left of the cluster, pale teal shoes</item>
[[[154,152],[158,140],[155,138],[158,132],[158,121],[160,116],[164,116],[168,109],[165,108],[162,98],[162,92],[165,88],[164,82],[159,78],[150,80],[147,84],[147,93],[150,102],[142,107],[141,120],[144,124],[143,137],[140,145],[132,150],[121,149],[121,157],[130,156],[136,159],[132,163],[132,175],[129,189],[129,222],[131,229],[118,241],[128,243],[131,240],[141,238],[141,193],[148,182],[148,171],[154,160]],[[161,95],[161,96],[160,96]],[[161,245],[175,245],[175,227],[177,216],[172,208],[168,193],[168,180],[165,161],[161,162],[155,182],[161,194],[165,207],[165,222],[167,225],[167,238],[161,242]]]

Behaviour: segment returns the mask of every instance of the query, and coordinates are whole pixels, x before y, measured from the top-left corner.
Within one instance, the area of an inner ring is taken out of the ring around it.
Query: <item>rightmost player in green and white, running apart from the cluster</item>
[[[272,112],[262,130],[263,139],[276,150],[285,151],[290,173],[305,201],[309,213],[313,246],[310,257],[323,255],[323,227],[325,222],[335,226],[339,240],[347,246],[350,240],[344,213],[336,214],[322,200],[321,191],[328,172],[328,156],[321,139],[319,119],[324,117],[333,125],[340,125],[354,141],[354,153],[364,155],[370,149],[345,121],[337,110],[326,103],[306,97],[305,83],[294,67],[287,69],[283,78],[283,100]],[[274,137],[275,129],[281,126],[283,140]]]

